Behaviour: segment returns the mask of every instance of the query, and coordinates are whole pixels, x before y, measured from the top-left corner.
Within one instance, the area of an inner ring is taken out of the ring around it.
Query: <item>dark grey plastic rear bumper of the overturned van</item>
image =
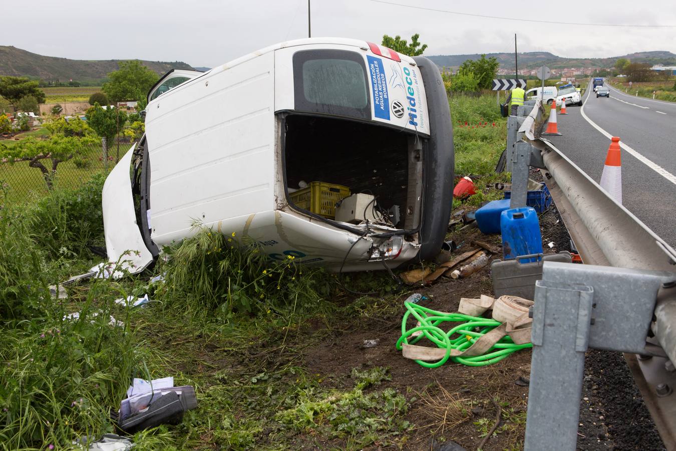
[[[448,229],[453,204],[453,125],[446,93],[439,69],[423,56],[413,58],[425,82],[429,111],[430,139],[424,149],[423,218],[420,223],[420,260],[429,260],[439,254]]]

